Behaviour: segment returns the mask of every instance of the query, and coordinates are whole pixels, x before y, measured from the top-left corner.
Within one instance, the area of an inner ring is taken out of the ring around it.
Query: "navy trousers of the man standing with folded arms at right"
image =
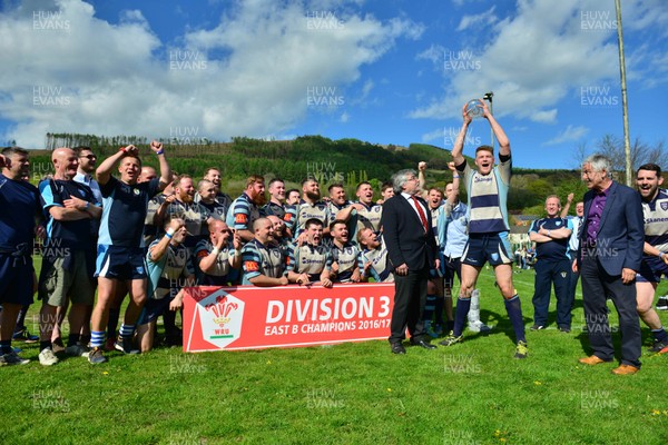
[[[533,291],[533,323],[544,326],[548,323],[548,309],[550,307],[550,291],[554,284],[557,296],[557,325],[570,326],[571,309],[573,306],[568,291],[570,281],[570,260],[539,259],[536,263],[536,281]]]

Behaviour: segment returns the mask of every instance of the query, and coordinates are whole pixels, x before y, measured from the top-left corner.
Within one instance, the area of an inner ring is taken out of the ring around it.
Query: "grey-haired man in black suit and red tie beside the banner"
[[[387,260],[394,269],[394,309],[390,325],[390,346],[394,354],[405,354],[401,342],[406,326],[411,344],[435,349],[426,340],[422,313],[426,301],[429,270],[439,267],[431,214],[420,197],[414,170],[401,170],[392,177],[394,196],[383,204],[383,239]]]

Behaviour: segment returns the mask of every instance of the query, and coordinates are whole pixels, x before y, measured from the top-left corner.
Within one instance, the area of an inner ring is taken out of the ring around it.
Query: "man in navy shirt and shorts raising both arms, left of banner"
[[[139,150],[131,145],[122,147],[116,155],[105,159],[97,169],[104,211],[96,270],[98,301],[90,320],[92,350],[88,355],[88,360],[92,364],[107,362],[101,349],[105,343],[105,327],[111,300],[116,296],[117,287],[124,281],[130,294],[130,301],[120,327],[120,335],[124,352],[132,352],[135,323],[146,300],[144,220],[149,199],[163,190],[171,179],[163,144],[154,140],[150,142],[150,149],[158,156],[159,180],[155,178],[148,182],[138,182],[141,160],[138,157]],[[111,176],[111,170],[119,162],[120,179],[116,179]]]

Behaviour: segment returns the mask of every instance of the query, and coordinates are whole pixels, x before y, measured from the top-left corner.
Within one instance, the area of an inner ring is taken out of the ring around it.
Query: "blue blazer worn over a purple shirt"
[[[582,260],[582,248],[587,241],[589,209],[595,190],[584,194],[584,220],[580,229],[578,265]],[[598,259],[608,275],[621,275],[622,268],[640,270],[645,244],[645,221],[640,194],[630,187],[612,181],[596,241]]]

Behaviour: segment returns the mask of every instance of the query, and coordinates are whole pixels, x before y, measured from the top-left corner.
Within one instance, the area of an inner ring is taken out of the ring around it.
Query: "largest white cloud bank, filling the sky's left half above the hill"
[[[396,39],[423,32],[405,18],[350,12],[336,16],[341,27],[314,30],[299,2],[245,1],[171,47],[139,11],[111,24],[79,0],[45,4],[24,1],[0,14],[0,50],[12,61],[0,71],[0,117],[17,122],[3,137],[29,148],[41,147],[48,131],[168,137],[190,127],[219,140],[285,134],[305,116],[310,86],[351,85]],[[35,29],[33,11],[49,8],[68,30]],[[371,88],[367,81],[363,91]]]

